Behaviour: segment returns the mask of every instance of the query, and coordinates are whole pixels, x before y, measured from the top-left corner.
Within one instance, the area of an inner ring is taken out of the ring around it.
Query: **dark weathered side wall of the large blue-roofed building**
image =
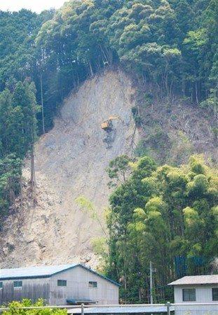
[[[17,279],[15,281],[18,281]],[[13,280],[4,280],[0,288],[0,305],[11,301],[20,301],[23,298],[36,301],[43,297],[49,302],[49,279],[21,279],[22,288],[14,288]]]

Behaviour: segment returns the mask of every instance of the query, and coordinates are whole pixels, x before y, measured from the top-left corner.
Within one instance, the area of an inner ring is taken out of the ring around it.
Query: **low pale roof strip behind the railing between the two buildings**
[[[174,311],[174,307],[170,307]],[[85,314],[127,314],[127,313],[166,313],[166,306],[140,306],[140,307],[90,307],[85,308]],[[81,314],[81,308],[69,309],[68,314]]]

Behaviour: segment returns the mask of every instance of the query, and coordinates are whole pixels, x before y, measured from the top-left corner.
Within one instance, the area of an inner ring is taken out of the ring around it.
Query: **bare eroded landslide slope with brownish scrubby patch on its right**
[[[149,154],[179,164],[204,153],[217,160],[214,118],[179,99],[158,101],[154,89],[132,82],[121,70],[107,70],[65,99],[53,130],[36,143],[35,206],[29,161],[23,169],[22,202],[17,200],[1,231],[1,266],[80,261],[96,267],[91,240],[102,230],[75,199],[91,200],[104,221],[110,193],[105,169],[118,155]],[[132,109],[140,118],[137,130]],[[101,124],[110,116],[116,119],[107,134]]]

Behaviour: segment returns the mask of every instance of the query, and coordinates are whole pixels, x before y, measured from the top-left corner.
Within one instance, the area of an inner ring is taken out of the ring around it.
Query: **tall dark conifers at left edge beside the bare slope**
[[[0,222],[20,193],[22,158],[36,139],[34,83],[0,92]]]

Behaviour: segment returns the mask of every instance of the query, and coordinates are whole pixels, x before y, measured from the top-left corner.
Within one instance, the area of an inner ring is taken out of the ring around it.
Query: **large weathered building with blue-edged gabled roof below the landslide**
[[[0,305],[23,298],[50,305],[118,304],[118,288],[81,264],[0,269]]]

